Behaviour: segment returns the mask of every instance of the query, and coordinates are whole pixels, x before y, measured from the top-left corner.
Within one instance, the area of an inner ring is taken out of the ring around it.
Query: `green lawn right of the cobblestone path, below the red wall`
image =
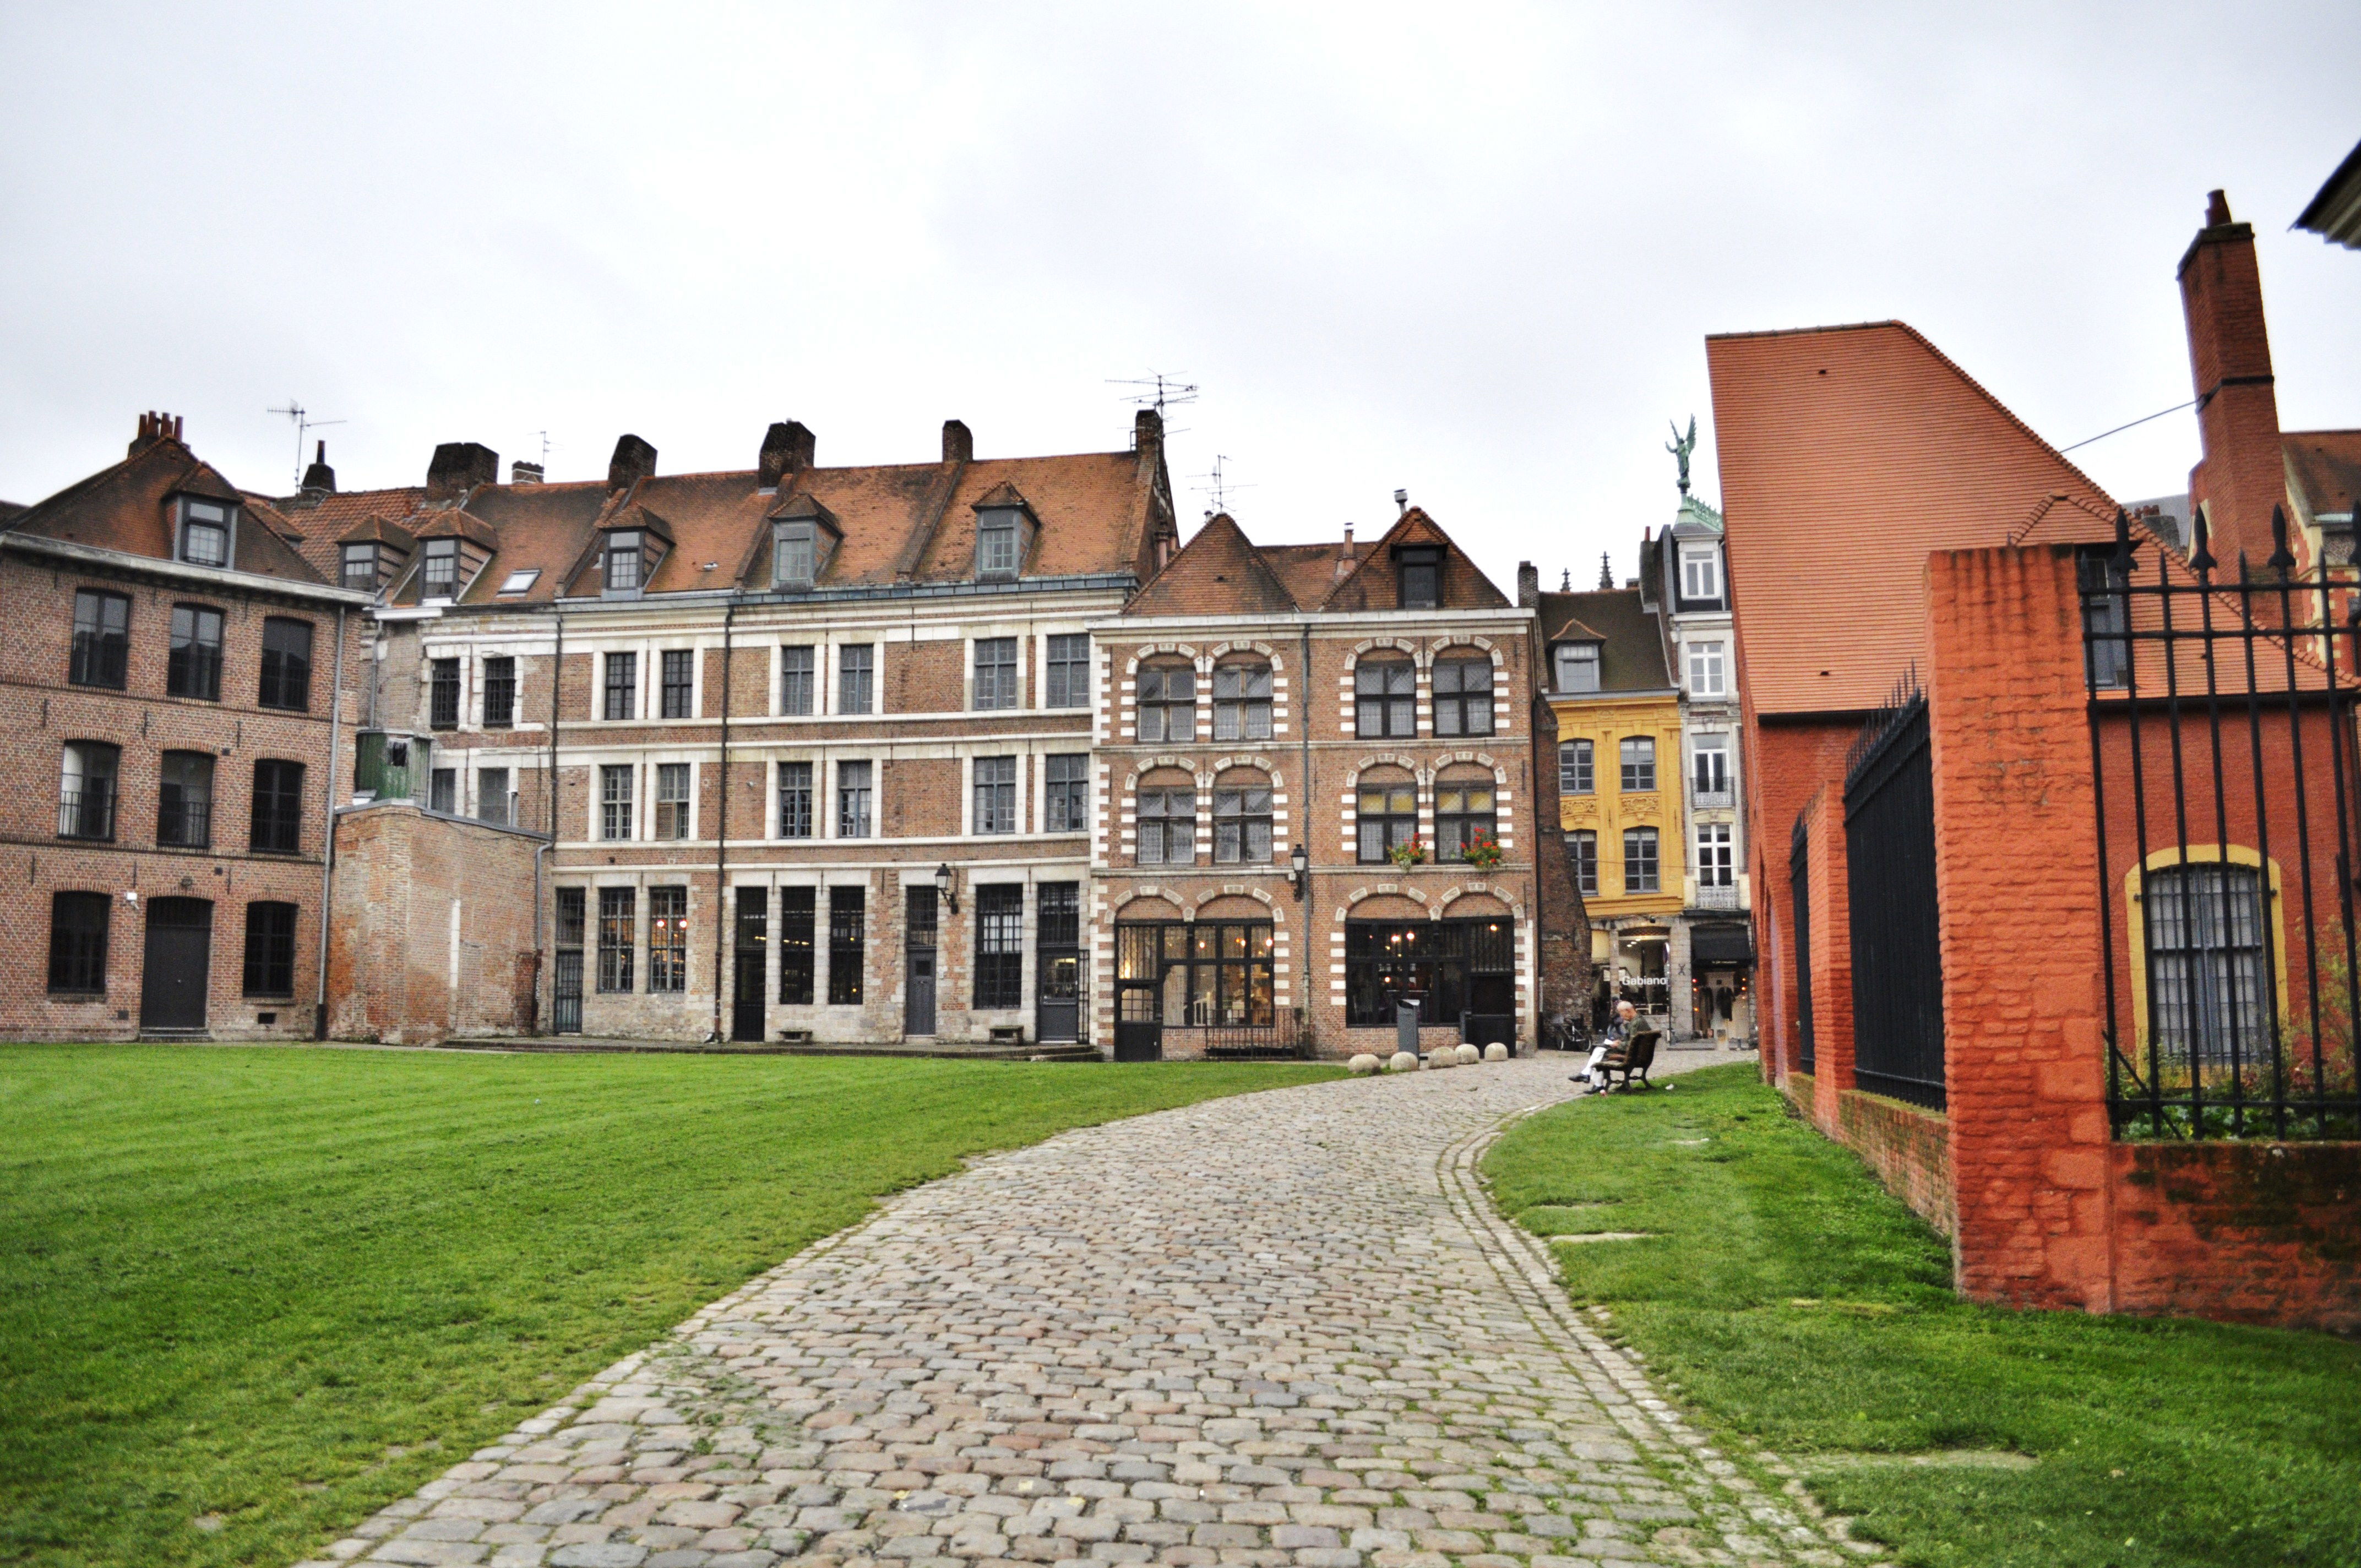
[[[2361,1344],[1957,1301],[1948,1244],[1754,1077],[1575,1100],[1485,1159],[1539,1235],[1660,1237],[1556,1254],[1707,1426],[1910,1563],[2361,1563]],[[1813,1464],[1917,1450],[2038,1464]]]

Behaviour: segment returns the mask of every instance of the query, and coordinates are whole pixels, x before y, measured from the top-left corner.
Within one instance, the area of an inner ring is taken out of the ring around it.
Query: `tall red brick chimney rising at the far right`
[[[2271,555],[2271,508],[2288,494],[2288,468],[2255,227],[2231,222],[2222,191],[2205,196],[2205,227],[2182,255],[2179,281],[2203,442],[2189,470],[2191,515],[2205,508],[2210,545],[2224,567],[2238,550],[2262,564]]]

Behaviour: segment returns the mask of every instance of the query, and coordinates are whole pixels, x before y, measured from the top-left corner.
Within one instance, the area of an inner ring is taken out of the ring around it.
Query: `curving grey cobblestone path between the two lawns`
[[[1490,1209],[1483,1145],[1568,1089],[1561,1060],[1350,1079],[980,1159],[323,1561],[1863,1561],[1686,1429]]]

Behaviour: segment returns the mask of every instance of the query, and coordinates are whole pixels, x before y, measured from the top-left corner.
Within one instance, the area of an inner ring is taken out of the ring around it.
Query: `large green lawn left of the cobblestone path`
[[[961,1155],[1332,1074],[0,1048],[0,1563],[293,1561]]]

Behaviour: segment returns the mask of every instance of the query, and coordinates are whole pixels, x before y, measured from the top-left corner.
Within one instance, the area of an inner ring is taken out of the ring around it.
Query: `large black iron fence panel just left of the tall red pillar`
[[[1934,756],[1917,678],[1894,690],[1844,770],[1853,919],[1853,1079],[1943,1108],[1943,926],[1934,867]]]

